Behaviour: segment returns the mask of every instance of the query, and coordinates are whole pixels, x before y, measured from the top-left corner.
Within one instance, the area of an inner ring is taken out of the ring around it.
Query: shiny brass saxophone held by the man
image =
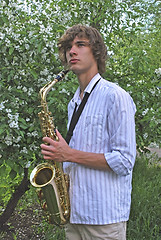
[[[48,111],[46,96],[56,82],[62,80],[68,70],[61,71],[57,77],[40,89],[41,112],[38,113],[43,136],[58,141],[56,129]],[[64,225],[69,221],[70,203],[68,195],[69,179],[63,172],[62,163],[45,162],[37,165],[30,175],[31,184],[38,188],[40,204],[47,215],[50,223]]]

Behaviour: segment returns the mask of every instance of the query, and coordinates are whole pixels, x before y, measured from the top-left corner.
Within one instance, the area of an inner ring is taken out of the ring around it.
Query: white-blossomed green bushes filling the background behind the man
[[[142,34],[144,6],[139,9],[130,1],[25,2],[26,5],[18,0],[0,2],[0,163],[6,161],[12,170],[21,172],[33,159],[40,161],[38,92],[62,69],[57,39],[67,26],[79,22],[99,28],[110,53],[105,78],[119,83],[134,98],[138,146],[159,143],[158,43],[151,30]],[[154,9],[155,6],[151,11]],[[49,93],[49,106],[63,135],[67,103],[76,86],[71,74],[68,84],[58,83],[55,91]]]

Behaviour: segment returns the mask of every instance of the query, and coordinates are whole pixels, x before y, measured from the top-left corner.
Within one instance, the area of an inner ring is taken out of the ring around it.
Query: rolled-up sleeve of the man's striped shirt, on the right
[[[128,175],[136,156],[135,104],[124,90],[115,91],[110,100],[108,131],[110,152],[104,154],[110,168],[118,175]]]

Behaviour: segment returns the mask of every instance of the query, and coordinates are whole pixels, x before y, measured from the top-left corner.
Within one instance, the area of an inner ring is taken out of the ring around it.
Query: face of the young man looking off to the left
[[[69,69],[77,75],[97,69],[89,40],[86,38],[75,37],[67,47],[66,59]]]

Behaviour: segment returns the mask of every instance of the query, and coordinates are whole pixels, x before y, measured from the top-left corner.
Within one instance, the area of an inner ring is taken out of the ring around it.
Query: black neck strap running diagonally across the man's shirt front
[[[93,86],[91,92],[96,87],[96,85],[97,85],[97,83],[99,81],[100,81],[100,79],[95,83],[95,85]],[[73,112],[73,115],[72,115],[72,119],[71,119],[71,122],[70,122],[69,130],[68,130],[66,138],[65,138],[65,140],[66,140],[66,142],[68,144],[70,142],[71,137],[73,136],[73,130],[74,130],[74,128],[75,128],[75,126],[76,126],[76,124],[77,124],[77,122],[79,120],[79,117],[80,117],[80,115],[81,115],[81,113],[82,113],[82,111],[84,109],[84,106],[85,106],[85,104],[86,104],[86,102],[87,102],[91,92],[90,93],[87,93],[87,92],[85,93],[85,95],[83,97],[83,100],[82,100],[81,104],[79,105],[79,108],[78,108],[77,111],[76,111],[77,104],[75,105],[75,109],[74,109],[74,112]]]

